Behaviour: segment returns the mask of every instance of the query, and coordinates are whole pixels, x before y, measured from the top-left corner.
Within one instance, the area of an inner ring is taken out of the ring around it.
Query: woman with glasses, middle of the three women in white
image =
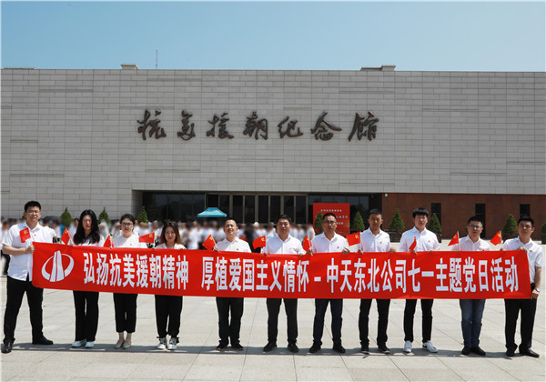
[[[133,234],[135,226],[135,217],[131,214],[125,214],[119,219],[121,221],[122,235],[117,236],[112,240],[115,248],[147,248],[145,243],[138,242],[138,236]],[[116,332],[119,338],[117,339],[116,349],[123,347],[128,349],[131,347],[131,336],[135,333],[136,328],[136,294],[115,293],[114,294],[114,310],[116,313]],[[124,337],[125,332],[127,333]]]

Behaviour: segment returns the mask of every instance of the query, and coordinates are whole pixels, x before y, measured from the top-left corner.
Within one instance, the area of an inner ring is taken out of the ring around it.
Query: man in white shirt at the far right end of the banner
[[[531,280],[531,298],[511,298],[504,300],[506,321],[504,337],[506,338],[506,355],[514,357],[516,348],[515,335],[518,316],[521,310],[521,344],[520,354],[538,358],[539,355],[531,350],[532,328],[537,310],[537,298],[541,293],[541,276],[544,267],[544,251],[541,246],[531,240],[534,232],[534,220],[530,216],[521,216],[518,220],[518,237],[506,240],[502,250],[513,251],[522,249],[527,252],[529,259],[529,276]]]

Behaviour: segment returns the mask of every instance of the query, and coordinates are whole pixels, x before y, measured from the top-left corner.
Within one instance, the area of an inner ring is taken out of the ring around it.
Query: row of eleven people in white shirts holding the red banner
[[[32,285],[32,253],[35,250],[33,242],[52,242],[56,232],[39,224],[41,206],[31,201],[25,205],[25,222],[11,226],[5,234],[2,244],[3,252],[11,257],[6,281],[6,305],[4,317],[4,344],[3,353],[11,352],[15,342],[15,323],[23,296],[26,293],[30,308],[32,326],[32,343],[37,345],[52,345],[53,342],[43,334],[42,299],[43,289]],[[429,211],[417,208],[413,211],[414,226],[403,233],[399,243],[400,252],[432,252],[440,249],[437,236],[426,226],[429,222]],[[389,234],[381,230],[383,223],[382,213],[377,209],[369,211],[369,228],[360,235],[360,242],[356,250],[360,254],[369,252],[396,252],[391,246]],[[113,239],[114,247],[146,247],[140,243],[135,233],[136,220],[130,214],[119,219],[119,235]],[[28,228],[30,236],[22,241],[20,232]],[[166,221],[157,225],[157,248],[186,249],[181,235],[182,228],[177,223]],[[207,227],[208,228],[208,227]],[[210,227],[213,229],[214,227]],[[307,253],[349,253],[347,239],[336,233],[337,218],[327,213],[322,220],[322,233],[311,239],[310,248],[305,251],[302,246],[303,238],[293,235],[294,225],[290,216],[278,217],[276,227],[271,227],[273,234],[266,236],[266,246],[262,252],[266,255],[303,255]],[[142,229],[146,229],[142,226]],[[259,226],[258,226],[259,229]],[[270,230],[270,231],[271,231]],[[487,251],[490,244],[480,238],[483,222],[480,217],[472,216],[467,222],[468,236],[462,237],[453,250]],[[537,298],[541,292],[541,269],[544,266],[544,252],[540,245],[534,243],[531,234],[534,231],[534,221],[530,216],[521,216],[518,221],[518,237],[504,242],[501,250],[523,249],[528,256],[531,280],[531,296],[524,299],[505,300],[505,343],[506,355],[513,357],[518,346],[515,342],[515,331],[521,311],[521,355],[539,357],[531,349],[532,330],[536,312]],[[229,252],[251,252],[250,246],[240,235],[241,229],[232,218],[227,218],[223,226],[223,236],[217,236],[217,245],[214,250]],[[266,233],[268,231],[266,230]],[[142,231],[139,232],[142,234]],[[314,232],[313,232],[314,234]],[[212,235],[212,234],[210,234]],[[305,236],[304,236],[305,237]],[[188,239],[189,240],[189,239]],[[105,236],[101,235],[96,214],[92,210],[83,211],[78,219],[74,236],[70,239],[73,246],[103,246]],[[204,241],[204,240],[203,240]],[[190,241],[191,242],[191,241]],[[197,248],[196,248],[197,249]],[[98,324],[98,292],[74,291],[76,311],[76,336],[72,347],[94,347]],[[114,347],[129,348],[132,345],[132,334],[136,329],[136,298],[135,294],[114,294],[116,332],[118,339]],[[178,344],[180,329],[180,315],[182,312],[182,297],[155,296],[158,349],[174,350]],[[241,318],[243,316],[243,297],[217,297],[218,313],[218,351],[227,346],[235,350],[243,350],[239,340]],[[268,353],[277,347],[278,314],[284,302],[287,315],[288,350],[297,353],[298,349],[298,299],[297,298],[267,298],[268,307],[268,342],[263,351]],[[432,306],[434,300],[421,299],[422,311],[422,347],[431,353],[438,352],[431,342]],[[378,318],[377,344],[380,353],[389,354],[387,347],[387,328],[389,324],[389,299],[376,300]],[[369,354],[369,310],[371,299],[361,299],[359,307],[359,340],[360,351]],[[317,298],[315,299],[315,317],[313,322],[313,343],[309,353],[317,353],[321,349],[326,311],[330,307],[332,322],[331,333],[333,350],[343,354],[346,352],[341,342],[341,326],[343,299]],[[407,299],[404,309],[404,345],[403,351],[412,352],[414,341],[413,321],[417,299]],[[485,356],[480,347],[481,318],[485,307],[484,299],[461,299],[461,328],[464,347],[461,354],[474,353]],[[169,337],[167,341],[167,336]]]

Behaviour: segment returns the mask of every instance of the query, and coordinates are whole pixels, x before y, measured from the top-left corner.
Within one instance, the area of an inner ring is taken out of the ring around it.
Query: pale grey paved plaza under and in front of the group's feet
[[[448,240],[449,241],[449,240]],[[444,240],[445,243],[448,241]],[[445,244],[442,244],[445,246]],[[543,281],[543,288],[546,283]],[[5,278],[0,309],[5,309]],[[111,294],[99,299],[100,317],[96,347],[72,349],[74,341],[74,302],[72,292],[47,289],[44,293],[44,333],[55,345],[33,346],[24,301],[11,354],[1,355],[2,380],[546,380],[545,301],[541,293],[533,333],[531,357],[506,357],[504,347],[503,300],[488,300],[483,316],[480,346],[487,357],[462,356],[460,308],[458,300],[436,300],[433,307],[432,342],[437,354],[413,343],[413,354],[402,352],[404,300],[390,305],[390,355],[377,352],[377,309],[370,312],[370,354],[359,353],[359,300],[344,300],[342,340],[347,354],[331,350],[330,316],[327,313],[323,348],[308,353],[312,343],[314,301],[298,301],[298,346],[293,355],[286,348],[286,315],[279,315],[278,348],[262,353],[267,343],[267,307],[262,298],[246,298],[241,326],[242,352],[218,353],[217,309],[212,297],[184,297],[180,344],[177,350],[157,350],[154,297],[138,297],[136,333],[133,347],[116,350],[114,304]],[[420,307],[415,319],[415,336],[420,338]],[[519,333],[516,341],[519,341]]]

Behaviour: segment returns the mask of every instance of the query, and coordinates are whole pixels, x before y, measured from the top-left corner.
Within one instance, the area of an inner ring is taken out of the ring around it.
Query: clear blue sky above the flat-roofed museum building
[[[544,71],[545,4],[8,2],[2,67]]]

